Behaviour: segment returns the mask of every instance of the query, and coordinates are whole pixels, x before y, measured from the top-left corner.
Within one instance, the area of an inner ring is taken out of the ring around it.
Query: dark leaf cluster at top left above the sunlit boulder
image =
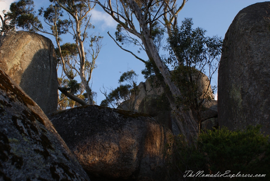
[[[7,13],[7,16],[10,18],[12,26],[37,32],[42,29],[42,24],[35,13],[34,1],[20,0],[10,4],[10,12]]]

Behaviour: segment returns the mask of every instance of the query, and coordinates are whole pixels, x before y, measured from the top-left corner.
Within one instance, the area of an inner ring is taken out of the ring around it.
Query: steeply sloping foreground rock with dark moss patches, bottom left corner
[[[40,107],[0,77],[0,180],[89,180]]]

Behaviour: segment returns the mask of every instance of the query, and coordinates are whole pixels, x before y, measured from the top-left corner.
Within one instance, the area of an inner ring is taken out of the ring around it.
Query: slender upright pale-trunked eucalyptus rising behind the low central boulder
[[[89,85],[91,80],[91,74],[95,68],[95,60],[98,57],[101,45],[101,36],[91,36],[90,37],[90,51],[91,62],[88,61],[86,57],[86,52],[84,48],[84,42],[88,38],[88,28],[91,28],[90,23],[90,11],[95,7],[95,3],[85,0],[50,0],[50,2],[56,2],[62,9],[64,9],[69,14],[69,22],[71,23],[72,32],[70,32],[74,39],[78,50],[79,56],[79,76],[87,93],[87,100],[89,105],[94,104],[92,90]],[[94,48],[93,48],[94,47]]]

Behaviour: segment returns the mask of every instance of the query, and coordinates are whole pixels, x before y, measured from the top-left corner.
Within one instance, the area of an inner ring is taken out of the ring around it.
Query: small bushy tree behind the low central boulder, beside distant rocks
[[[137,86],[137,79],[138,75],[133,70],[124,72],[118,81],[119,87],[112,89],[109,94],[107,94],[106,90],[102,92],[106,99],[101,101],[101,106],[127,108],[129,111],[134,111],[140,91]],[[128,84],[122,85],[124,82]]]

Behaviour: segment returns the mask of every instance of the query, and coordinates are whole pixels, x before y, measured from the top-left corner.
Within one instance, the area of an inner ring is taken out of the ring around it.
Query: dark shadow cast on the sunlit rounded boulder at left
[[[21,76],[19,86],[46,115],[57,110],[58,100],[56,59],[51,55],[52,51],[39,50],[22,74],[20,71],[15,72],[15,76]]]

